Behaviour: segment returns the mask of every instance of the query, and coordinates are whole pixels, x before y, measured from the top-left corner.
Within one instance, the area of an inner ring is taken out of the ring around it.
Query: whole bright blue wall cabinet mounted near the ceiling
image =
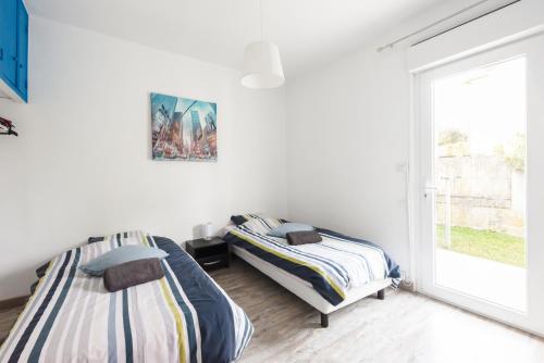
[[[23,0],[0,0],[0,93],[27,101],[28,13]]]

